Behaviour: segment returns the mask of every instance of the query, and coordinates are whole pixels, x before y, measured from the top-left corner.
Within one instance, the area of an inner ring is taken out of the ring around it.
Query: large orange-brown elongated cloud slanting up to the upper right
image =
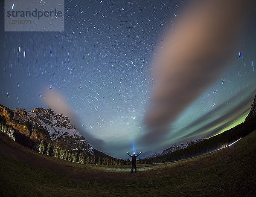
[[[161,136],[227,67],[235,54],[253,1],[197,1],[180,14],[166,33],[154,60],[154,89],[145,122],[146,138]]]

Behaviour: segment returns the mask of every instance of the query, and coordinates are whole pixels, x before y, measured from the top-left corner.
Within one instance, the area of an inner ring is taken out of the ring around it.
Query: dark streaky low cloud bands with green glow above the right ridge
[[[147,147],[148,144],[155,142],[158,144],[158,150],[161,152],[166,148],[169,148],[172,144],[186,143],[198,138],[208,138],[210,136],[218,134],[221,130],[227,130],[230,125],[233,125],[237,121],[241,121],[241,117],[246,116],[253,102],[256,89],[254,85],[248,88],[242,89],[236,95],[226,99],[218,106],[206,114],[199,116],[189,124],[180,125],[179,127],[172,128],[168,133],[158,138],[141,138],[143,146]],[[227,106],[229,103],[229,106]],[[227,110],[228,109],[228,110]],[[143,141],[144,140],[144,141]],[[159,142],[160,141],[160,142]],[[157,143],[158,142],[158,143]],[[156,149],[148,146],[149,152],[154,152]]]

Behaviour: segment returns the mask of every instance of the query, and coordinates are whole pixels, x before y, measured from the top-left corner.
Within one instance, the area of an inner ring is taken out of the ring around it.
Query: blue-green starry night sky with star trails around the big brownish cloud
[[[64,113],[93,148],[121,158],[133,145],[145,156],[243,122],[256,94],[254,20],[229,67],[170,123],[168,134],[150,144],[143,139],[155,50],[184,4],[65,1],[64,32],[4,32],[2,12],[0,104]]]

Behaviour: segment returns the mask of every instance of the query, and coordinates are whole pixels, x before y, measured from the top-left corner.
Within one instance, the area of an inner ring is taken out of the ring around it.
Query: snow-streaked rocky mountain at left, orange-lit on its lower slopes
[[[35,142],[52,141],[55,145],[68,151],[81,150],[87,155],[110,157],[94,149],[89,142],[71,125],[70,119],[56,114],[50,108],[34,108],[10,110],[0,104],[0,116],[19,133]]]

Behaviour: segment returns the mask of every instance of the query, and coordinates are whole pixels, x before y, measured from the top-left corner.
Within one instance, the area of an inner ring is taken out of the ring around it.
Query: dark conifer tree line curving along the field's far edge
[[[12,126],[6,125],[6,120],[3,119],[3,117],[0,117],[0,129],[16,142],[31,150],[38,151],[41,154],[90,165],[131,165],[130,159],[124,160],[120,158],[116,159],[108,157],[95,157],[87,155],[81,150],[67,151],[64,148],[55,146],[52,141],[34,141],[30,139],[29,136],[25,136],[24,134],[19,133]],[[232,142],[248,135],[253,130],[256,130],[256,120],[248,120],[223,133],[212,136],[211,138],[205,139],[204,141],[192,145],[188,148],[170,154],[139,159],[137,160],[137,164],[173,162],[180,159],[188,159],[202,154],[207,154],[220,148],[227,147]]]

